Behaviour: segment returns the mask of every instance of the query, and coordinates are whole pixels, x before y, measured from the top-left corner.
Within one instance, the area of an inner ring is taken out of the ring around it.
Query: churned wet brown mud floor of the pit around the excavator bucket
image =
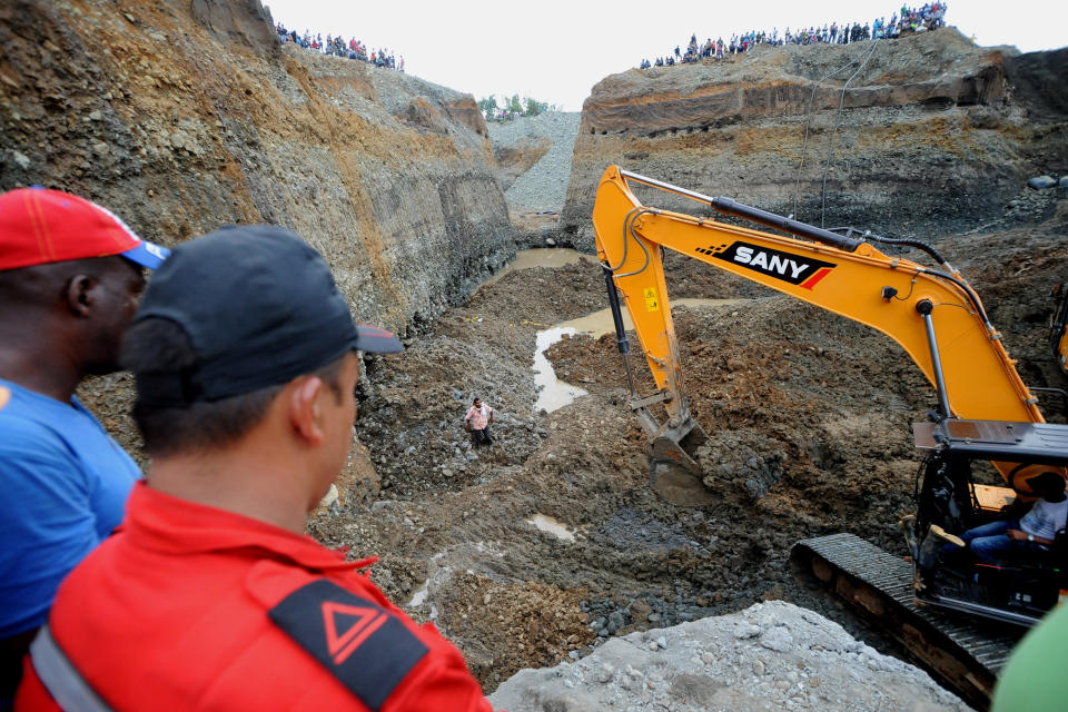
[[[1046,338],[1048,290],[1068,280],[1064,219],[938,246],[979,291],[1024,379],[1065,387]],[[513,271],[405,354],[368,362],[356,428],[380,491],[334,505],[312,531],[353,557],[380,556],[373,580],[433,619],[487,691],[611,635],[769,599],[888,650],[798,584],[787,560],[797,540],[839,531],[904,555],[897,522],[911,512],[919,464],[911,423],[934,404],[932,388],[874,330],[690,260],[669,259],[669,270],[673,298],[743,299],[674,312],[686,392],[711,436],[704,506],[650,490],[613,335],[551,347],[557,375],[589,395],[533,412],[536,333],[606,305],[591,258]],[[644,363],[631,359],[651,393]],[[475,395],[497,409],[496,443],[481,452],[462,427]],[[1047,413],[1062,421],[1058,404]]]

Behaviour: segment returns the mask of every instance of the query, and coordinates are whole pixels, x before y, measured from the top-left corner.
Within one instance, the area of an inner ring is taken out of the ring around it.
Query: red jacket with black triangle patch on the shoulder
[[[117,711],[492,712],[459,651],[357,572],[369,563],[141,483],[49,624]],[[27,659],[16,710],[58,709]]]

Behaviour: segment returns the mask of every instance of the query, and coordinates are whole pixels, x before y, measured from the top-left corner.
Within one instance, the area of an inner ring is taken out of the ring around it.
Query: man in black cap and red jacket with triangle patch
[[[304,533],[352,444],[357,352],[400,348],[291,233],[178,247],[122,349],[147,483],[60,587],[16,709],[488,711],[459,651],[359,572],[374,558]]]

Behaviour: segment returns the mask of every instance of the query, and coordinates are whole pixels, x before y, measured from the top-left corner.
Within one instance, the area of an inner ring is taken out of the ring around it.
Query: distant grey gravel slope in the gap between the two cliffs
[[[581,118],[578,111],[546,111],[535,117],[488,122],[494,148],[542,137],[553,142],[548,152],[504,194],[510,202],[537,211],[563,209]]]

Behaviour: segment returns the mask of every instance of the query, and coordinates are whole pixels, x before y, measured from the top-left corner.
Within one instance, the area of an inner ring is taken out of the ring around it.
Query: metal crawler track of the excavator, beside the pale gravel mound
[[[896,637],[928,673],[985,710],[1022,629],[933,611],[913,597],[912,565],[852,534],[802,540],[794,572],[814,576]]]

